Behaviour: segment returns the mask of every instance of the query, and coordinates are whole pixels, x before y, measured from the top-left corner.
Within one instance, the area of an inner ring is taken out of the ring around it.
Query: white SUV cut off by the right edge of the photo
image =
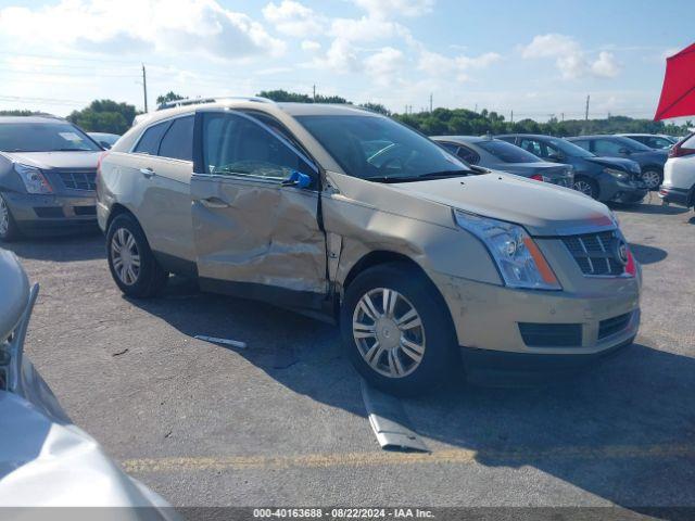
[[[691,134],[669,151],[659,196],[666,203],[695,206],[695,134]]]

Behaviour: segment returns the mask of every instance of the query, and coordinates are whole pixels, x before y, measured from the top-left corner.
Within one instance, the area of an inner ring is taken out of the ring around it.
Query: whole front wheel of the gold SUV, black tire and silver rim
[[[387,393],[422,394],[455,366],[448,310],[429,279],[405,264],[358,275],[345,291],[340,327],[355,369]]]

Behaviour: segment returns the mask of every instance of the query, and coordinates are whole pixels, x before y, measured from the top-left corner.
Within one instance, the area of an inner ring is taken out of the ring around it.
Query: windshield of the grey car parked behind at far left
[[[0,124],[3,152],[59,152],[101,150],[80,129],[68,123]]]

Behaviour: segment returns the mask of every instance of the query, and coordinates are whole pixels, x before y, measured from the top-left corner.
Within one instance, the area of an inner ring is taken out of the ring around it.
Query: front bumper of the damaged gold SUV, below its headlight
[[[637,278],[592,278],[572,292],[516,290],[441,274],[432,278],[451,312],[469,373],[581,368],[631,343],[640,327]],[[541,341],[530,340],[522,331],[527,327],[535,328]],[[558,328],[573,334],[563,336]]]

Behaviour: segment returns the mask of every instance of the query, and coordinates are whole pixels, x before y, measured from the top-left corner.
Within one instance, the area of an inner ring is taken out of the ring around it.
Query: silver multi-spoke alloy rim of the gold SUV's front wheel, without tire
[[[407,377],[422,361],[422,320],[415,306],[395,290],[376,288],[359,298],[352,334],[364,360],[384,377]]]

